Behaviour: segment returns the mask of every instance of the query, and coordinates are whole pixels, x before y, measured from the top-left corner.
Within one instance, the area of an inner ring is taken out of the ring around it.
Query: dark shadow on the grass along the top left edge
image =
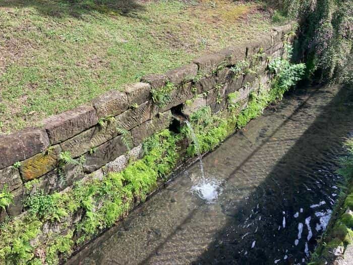
[[[136,16],[145,7],[135,0],[5,0],[0,8],[33,7],[44,16],[57,18],[82,18],[85,14],[98,12],[108,15]]]

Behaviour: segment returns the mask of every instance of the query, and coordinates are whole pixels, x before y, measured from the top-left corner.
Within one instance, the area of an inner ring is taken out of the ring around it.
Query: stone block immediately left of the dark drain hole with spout
[[[167,111],[160,113],[158,117],[144,122],[143,124],[132,129],[131,133],[134,139],[134,145],[137,146],[142,143],[145,138],[151,136],[153,133],[168,128],[171,120],[171,112]]]

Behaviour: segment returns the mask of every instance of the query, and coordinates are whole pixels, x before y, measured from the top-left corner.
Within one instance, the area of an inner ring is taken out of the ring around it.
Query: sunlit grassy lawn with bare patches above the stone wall
[[[0,133],[270,28],[259,2],[0,0]]]

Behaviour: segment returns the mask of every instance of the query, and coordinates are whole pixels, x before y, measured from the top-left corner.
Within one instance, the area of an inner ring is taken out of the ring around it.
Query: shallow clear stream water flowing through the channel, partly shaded
[[[297,89],[203,157],[205,184],[185,169],[68,263],[305,264],[352,132],[351,87]]]

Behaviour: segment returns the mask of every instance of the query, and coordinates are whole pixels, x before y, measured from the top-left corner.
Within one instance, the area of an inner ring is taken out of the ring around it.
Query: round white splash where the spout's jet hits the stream
[[[218,194],[221,192],[221,182],[214,179],[203,179],[200,183],[191,187],[191,191],[195,192],[201,199],[207,203],[214,203]]]

